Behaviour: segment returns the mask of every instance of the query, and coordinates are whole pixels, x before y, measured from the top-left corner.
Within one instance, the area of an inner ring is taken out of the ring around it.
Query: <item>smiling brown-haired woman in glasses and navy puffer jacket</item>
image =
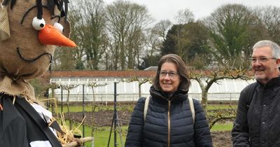
[[[212,146],[207,119],[195,99],[193,121],[188,102],[189,87],[186,64],[181,57],[163,56],[151,86],[146,118],[145,98],[140,98],[132,113],[125,146]]]

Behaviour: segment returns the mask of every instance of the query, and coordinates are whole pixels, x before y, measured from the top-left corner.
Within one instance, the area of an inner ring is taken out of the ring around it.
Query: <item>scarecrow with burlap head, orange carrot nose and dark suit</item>
[[[62,146],[28,80],[48,70],[57,45],[76,46],[66,37],[68,3],[0,0],[0,146]]]

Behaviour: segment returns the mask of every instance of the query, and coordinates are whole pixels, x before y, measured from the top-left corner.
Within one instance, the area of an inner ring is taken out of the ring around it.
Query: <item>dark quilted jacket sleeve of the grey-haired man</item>
[[[247,123],[247,111],[248,106],[246,104],[246,99],[248,99],[248,88],[246,87],[241,91],[237,116],[235,118],[235,123],[232,128],[232,144],[233,146],[250,146],[249,144],[249,134],[248,134],[248,123]]]

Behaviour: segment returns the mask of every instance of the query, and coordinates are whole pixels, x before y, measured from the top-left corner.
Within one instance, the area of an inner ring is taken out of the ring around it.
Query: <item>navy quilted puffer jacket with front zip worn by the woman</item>
[[[150,92],[151,99],[145,123],[145,98],[140,98],[134,107],[125,142],[126,147],[168,146],[168,121],[170,121],[171,147],[212,146],[209,125],[197,100],[193,101],[195,106],[194,125],[186,92],[176,92],[170,98],[155,91],[153,87]],[[170,119],[168,113],[170,113]]]

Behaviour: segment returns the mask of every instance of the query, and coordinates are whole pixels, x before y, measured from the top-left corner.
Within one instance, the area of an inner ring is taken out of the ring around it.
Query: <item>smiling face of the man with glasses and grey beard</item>
[[[252,69],[255,79],[266,84],[270,79],[279,76],[278,64],[280,59],[272,57],[272,50],[269,46],[255,48],[252,54]]]

